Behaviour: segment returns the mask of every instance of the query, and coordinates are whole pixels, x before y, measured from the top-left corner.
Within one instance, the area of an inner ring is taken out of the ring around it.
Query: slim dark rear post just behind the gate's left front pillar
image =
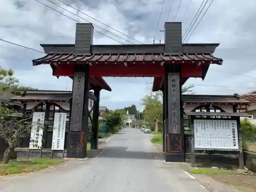
[[[94,95],[96,96],[96,101],[94,101],[94,108],[93,108],[93,127],[92,132],[93,136],[91,138],[91,149],[97,150],[98,149],[98,126],[99,126],[99,96],[100,96],[100,89],[94,90]]]

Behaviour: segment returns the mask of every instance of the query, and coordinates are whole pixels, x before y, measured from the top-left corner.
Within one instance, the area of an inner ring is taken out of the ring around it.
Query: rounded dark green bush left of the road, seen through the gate
[[[122,123],[121,114],[117,111],[108,111],[103,115],[103,123],[109,126],[111,133],[116,132],[116,128]]]

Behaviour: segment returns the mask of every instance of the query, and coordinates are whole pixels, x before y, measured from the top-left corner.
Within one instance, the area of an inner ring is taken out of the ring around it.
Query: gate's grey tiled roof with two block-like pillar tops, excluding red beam
[[[219,44],[182,44],[180,22],[166,22],[164,44],[93,45],[91,23],[76,24],[75,44],[41,44],[47,55],[33,60],[33,65],[62,61],[182,61],[205,60],[221,65],[222,59],[212,55]],[[57,63],[55,63],[57,64]]]

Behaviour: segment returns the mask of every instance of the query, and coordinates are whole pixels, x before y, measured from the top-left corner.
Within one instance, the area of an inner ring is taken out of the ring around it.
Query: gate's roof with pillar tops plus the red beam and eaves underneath
[[[165,23],[164,44],[93,45],[93,34],[91,23],[76,24],[75,44],[42,44],[47,55],[34,59],[33,65],[50,64],[56,69],[53,73],[56,76],[72,75],[72,64],[89,64],[91,76],[154,76],[153,88],[156,91],[162,89],[165,64],[184,65],[184,83],[189,77],[204,78],[210,64],[222,65],[223,61],[213,55],[219,44],[182,44],[180,22]],[[112,64],[107,67],[108,73],[106,63]],[[150,69],[150,73],[138,73]],[[130,74],[134,71],[136,74]]]

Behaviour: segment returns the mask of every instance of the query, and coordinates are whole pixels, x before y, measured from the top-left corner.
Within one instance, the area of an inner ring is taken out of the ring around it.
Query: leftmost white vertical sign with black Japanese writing
[[[38,150],[42,146],[42,134],[44,133],[45,112],[34,112],[32,119],[30,150]]]

